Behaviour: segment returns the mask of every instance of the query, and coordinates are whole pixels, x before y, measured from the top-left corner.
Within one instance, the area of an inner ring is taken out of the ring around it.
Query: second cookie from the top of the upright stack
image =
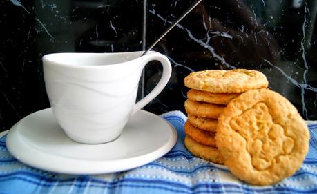
[[[204,101],[224,105],[227,105],[231,99],[238,97],[238,95],[240,95],[240,93],[209,93],[195,89],[191,89],[187,92],[187,97],[193,101]]]

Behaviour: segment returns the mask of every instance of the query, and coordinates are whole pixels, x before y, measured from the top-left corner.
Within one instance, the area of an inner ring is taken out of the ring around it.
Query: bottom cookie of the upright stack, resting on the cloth
[[[224,160],[220,155],[220,151],[217,148],[211,146],[204,146],[195,142],[191,137],[185,137],[185,146],[187,150],[195,155],[196,157],[200,157],[202,159],[206,159],[209,162],[224,164]]]

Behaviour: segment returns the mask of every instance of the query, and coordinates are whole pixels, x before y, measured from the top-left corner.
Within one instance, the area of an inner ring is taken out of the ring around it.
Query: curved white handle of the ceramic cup
[[[148,104],[151,100],[153,100],[157,95],[160,94],[160,92],[164,89],[167,82],[169,81],[172,72],[172,67],[169,59],[167,59],[167,57],[160,54],[159,52],[149,52],[148,54],[140,58],[144,58],[142,68],[144,68],[144,66],[146,66],[146,64],[148,64],[149,61],[159,61],[163,66],[163,72],[160,81],[157,83],[155,88],[153,88],[151,93],[148,93],[148,95],[146,95],[143,99],[141,99],[135,104],[132,115],[134,115],[138,110],[146,106],[146,104]]]

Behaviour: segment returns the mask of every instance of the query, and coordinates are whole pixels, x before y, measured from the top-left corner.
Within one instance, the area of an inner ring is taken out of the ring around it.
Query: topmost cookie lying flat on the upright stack
[[[184,81],[188,88],[211,93],[243,93],[269,86],[267,77],[262,72],[246,69],[192,72]]]

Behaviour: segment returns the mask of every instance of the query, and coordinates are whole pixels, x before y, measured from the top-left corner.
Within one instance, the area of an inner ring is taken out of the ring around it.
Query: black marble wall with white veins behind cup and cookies
[[[0,131],[48,108],[41,57],[52,52],[144,50],[193,2],[184,0],[0,1]],[[305,119],[317,119],[316,1],[205,0],[153,48],[172,77],[144,109],[184,111],[184,77],[206,69],[267,75]],[[160,79],[146,66],[139,98]],[[158,72],[158,73],[157,73]]]

